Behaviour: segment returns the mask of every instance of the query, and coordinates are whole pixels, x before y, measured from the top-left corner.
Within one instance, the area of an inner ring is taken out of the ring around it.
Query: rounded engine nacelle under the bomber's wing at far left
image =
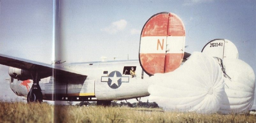
[[[21,81],[32,79],[30,72],[28,70],[24,70],[24,69],[9,67],[8,74],[12,78],[18,79]]]

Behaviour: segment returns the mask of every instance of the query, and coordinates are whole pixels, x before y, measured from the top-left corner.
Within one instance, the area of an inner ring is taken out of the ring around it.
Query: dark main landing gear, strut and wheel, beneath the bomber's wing
[[[41,88],[39,85],[39,75],[37,72],[34,72],[34,73],[30,72],[30,73],[33,79],[33,85],[27,94],[27,103],[33,103],[33,102],[41,103],[43,101],[43,94],[41,92]]]

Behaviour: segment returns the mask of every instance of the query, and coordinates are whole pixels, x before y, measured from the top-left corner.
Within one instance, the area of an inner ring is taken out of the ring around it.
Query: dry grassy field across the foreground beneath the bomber
[[[159,108],[54,106],[0,102],[0,122],[256,122],[255,115],[163,112]]]

